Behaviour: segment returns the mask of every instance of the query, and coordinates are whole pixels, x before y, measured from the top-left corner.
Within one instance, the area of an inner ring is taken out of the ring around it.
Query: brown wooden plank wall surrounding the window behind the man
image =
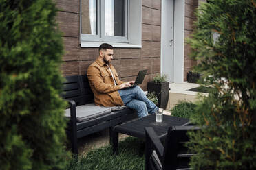
[[[98,57],[98,48],[79,45],[80,0],[55,0],[59,8],[57,21],[63,32],[65,54],[61,70],[63,75],[83,75],[89,64]],[[142,49],[114,49],[114,64],[124,81],[134,80],[138,71],[148,69],[141,85],[160,73],[161,0],[142,0]]]

